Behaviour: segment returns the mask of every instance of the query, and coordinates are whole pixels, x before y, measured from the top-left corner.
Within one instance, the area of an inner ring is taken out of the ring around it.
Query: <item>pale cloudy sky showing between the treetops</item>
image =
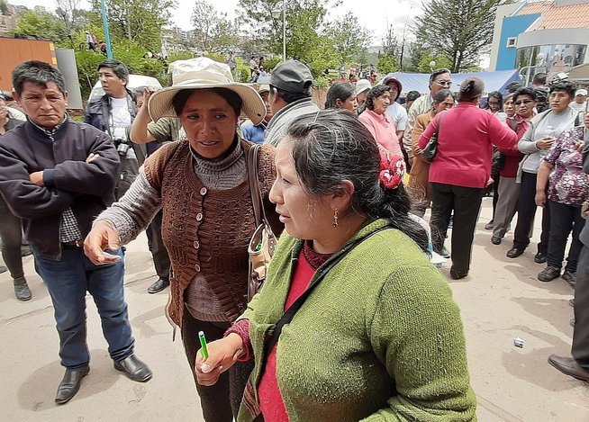
[[[171,24],[184,30],[192,29],[190,16],[192,14],[193,0],[176,0],[177,8],[172,13]],[[33,8],[37,4],[44,5],[47,9],[55,8],[54,0],[8,0],[10,4],[23,4]],[[230,18],[237,16],[236,9],[238,0],[216,0],[211,1],[219,12],[228,13]],[[362,26],[373,31],[372,45],[380,45],[388,24],[393,24],[397,30],[397,36],[401,37],[403,27],[409,17],[409,25],[412,19],[420,12],[415,1],[412,0],[371,0],[369,7],[363,6],[360,0],[340,0],[340,6],[331,8],[328,20],[338,18],[348,12],[356,14]],[[82,0],[82,7],[87,8],[88,3]],[[191,13],[186,13],[190,10]],[[408,31],[409,33],[409,31]]]

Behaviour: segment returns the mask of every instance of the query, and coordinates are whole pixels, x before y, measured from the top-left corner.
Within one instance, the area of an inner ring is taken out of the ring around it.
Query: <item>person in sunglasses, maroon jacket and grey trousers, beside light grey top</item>
[[[505,124],[517,134],[518,139],[521,139],[530,127],[535,106],[536,94],[531,88],[520,88],[505,100],[505,107],[512,107],[515,111],[515,115],[511,117],[509,116],[510,112],[507,113],[508,118]],[[504,164],[499,172],[499,200],[494,213],[493,237],[491,238],[494,245],[501,244],[515,211],[517,211],[521,185],[516,182],[516,176],[523,157],[517,145],[513,148],[499,148],[499,151],[503,154]]]

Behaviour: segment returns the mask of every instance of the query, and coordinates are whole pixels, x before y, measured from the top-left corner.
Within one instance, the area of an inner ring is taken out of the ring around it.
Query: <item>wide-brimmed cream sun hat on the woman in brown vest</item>
[[[231,69],[211,58],[178,60],[172,67],[173,85],[151,94],[148,110],[152,121],[160,117],[178,117],[172,105],[174,96],[184,89],[227,88],[240,95],[241,113],[254,124],[266,116],[266,105],[258,92],[250,85],[233,81]]]

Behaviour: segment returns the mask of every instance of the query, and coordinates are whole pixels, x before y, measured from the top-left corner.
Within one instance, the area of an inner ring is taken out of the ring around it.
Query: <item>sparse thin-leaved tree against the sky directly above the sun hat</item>
[[[231,22],[227,13],[219,13],[206,0],[196,0],[192,13],[196,47],[202,51],[228,53],[239,42],[237,22]]]

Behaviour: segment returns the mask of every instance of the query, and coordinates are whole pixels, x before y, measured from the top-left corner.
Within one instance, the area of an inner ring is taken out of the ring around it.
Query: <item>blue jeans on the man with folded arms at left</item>
[[[61,260],[41,259],[35,253],[35,266],[53,301],[55,320],[59,332],[59,356],[68,369],[88,366],[90,355],[86,345],[86,291],[92,294],[108,353],[114,361],[133,353],[135,339],[124,301],[122,261],[110,265],[94,265],[81,247],[66,248]],[[119,250],[118,255],[122,257]]]

